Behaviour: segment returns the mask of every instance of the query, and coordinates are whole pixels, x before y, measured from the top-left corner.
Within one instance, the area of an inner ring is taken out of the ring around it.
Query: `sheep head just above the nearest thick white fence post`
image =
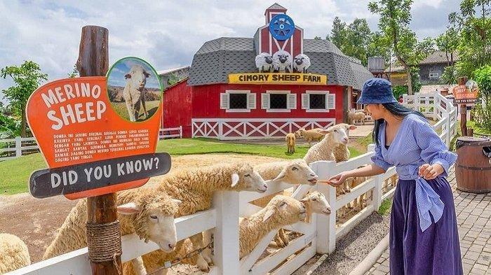
[[[240,171],[232,174],[231,188],[236,191],[252,191],[264,193],[268,190],[268,185],[262,176],[249,164],[245,164]]]

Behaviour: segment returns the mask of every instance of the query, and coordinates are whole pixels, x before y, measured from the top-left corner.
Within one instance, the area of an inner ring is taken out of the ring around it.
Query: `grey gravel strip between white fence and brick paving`
[[[337,241],[334,253],[312,274],[349,274],[389,232],[389,220],[389,214],[380,216],[373,212]],[[304,272],[299,269],[294,274]]]

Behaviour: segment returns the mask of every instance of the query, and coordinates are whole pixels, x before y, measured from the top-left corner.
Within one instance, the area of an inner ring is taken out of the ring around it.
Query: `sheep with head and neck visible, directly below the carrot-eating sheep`
[[[277,195],[264,209],[243,218],[239,222],[239,258],[248,255],[269,232],[292,225],[307,217],[302,202],[283,195]]]

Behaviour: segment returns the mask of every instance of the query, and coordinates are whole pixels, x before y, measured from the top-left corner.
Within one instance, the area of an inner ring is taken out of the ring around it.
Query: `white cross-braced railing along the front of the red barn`
[[[300,128],[327,128],[335,118],[193,118],[193,137],[220,140],[278,139]]]

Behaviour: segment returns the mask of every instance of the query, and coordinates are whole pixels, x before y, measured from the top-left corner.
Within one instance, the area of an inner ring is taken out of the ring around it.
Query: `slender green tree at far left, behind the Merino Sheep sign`
[[[25,106],[27,99],[39,87],[39,85],[48,80],[46,73],[41,73],[39,65],[32,61],[26,61],[20,66],[6,66],[1,69],[0,76],[7,78],[9,76],[15,83],[14,86],[2,90],[5,98],[11,102],[11,106],[16,115],[20,116],[20,136],[26,136],[26,115]]]

